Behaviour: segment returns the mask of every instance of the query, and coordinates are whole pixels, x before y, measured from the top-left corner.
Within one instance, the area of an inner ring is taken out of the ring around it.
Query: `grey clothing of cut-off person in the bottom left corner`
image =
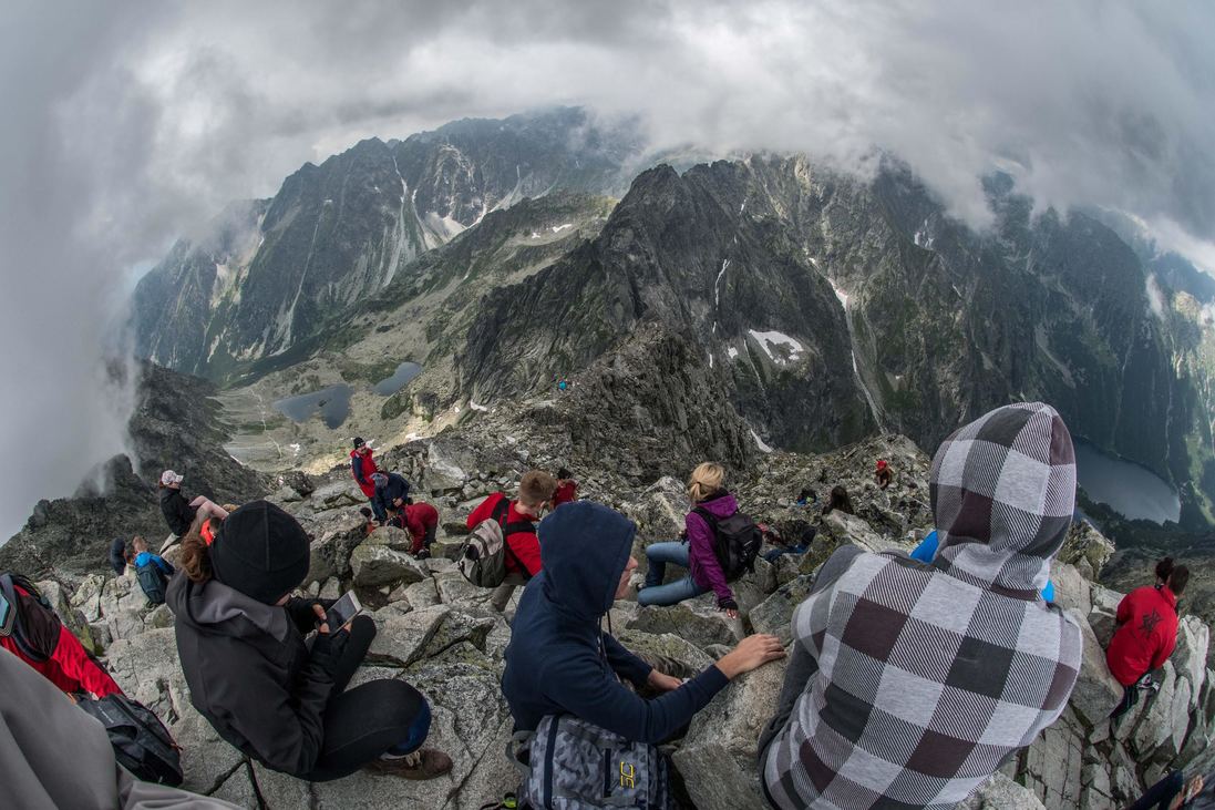
[[[227,801],[131,776],[119,767],[102,724],[5,652],[0,682],[5,806],[237,810]]]

